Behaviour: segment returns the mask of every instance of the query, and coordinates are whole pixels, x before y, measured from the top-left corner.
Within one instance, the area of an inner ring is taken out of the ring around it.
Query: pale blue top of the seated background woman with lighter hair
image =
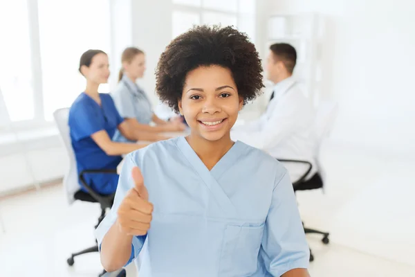
[[[122,118],[136,118],[139,123],[150,124],[153,118],[151,102],[138,85],[123,75],[116,89],[111,93]],[[120,132],[116,132],[113,141],[128,142]]]

